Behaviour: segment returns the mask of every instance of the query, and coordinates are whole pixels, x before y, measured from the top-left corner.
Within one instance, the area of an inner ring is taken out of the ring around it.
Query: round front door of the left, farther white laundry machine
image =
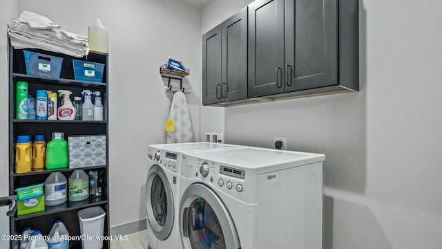
[[[167,239],[173,228],[175,210],[171,184],[159,165],[153,165],[148,172],[146,210],[148,223],[155,237]]]

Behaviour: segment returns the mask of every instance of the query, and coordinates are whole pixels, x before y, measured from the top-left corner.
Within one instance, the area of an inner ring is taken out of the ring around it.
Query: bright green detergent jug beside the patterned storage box
[[[61,169],[69,165],[68,142],[63,132],[53,132],[46,145],[46,169]]]

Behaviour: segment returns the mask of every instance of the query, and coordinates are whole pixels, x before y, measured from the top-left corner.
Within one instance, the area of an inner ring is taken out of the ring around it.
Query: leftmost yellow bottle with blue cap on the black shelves
[[[18,136],[15,145],[15,173],[27,173],[31,170],[30,136]]]

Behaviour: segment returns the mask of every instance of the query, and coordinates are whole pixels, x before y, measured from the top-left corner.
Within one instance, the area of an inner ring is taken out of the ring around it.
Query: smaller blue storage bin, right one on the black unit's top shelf
[[[102,82],[104,64],[73,59],[75,80]]]

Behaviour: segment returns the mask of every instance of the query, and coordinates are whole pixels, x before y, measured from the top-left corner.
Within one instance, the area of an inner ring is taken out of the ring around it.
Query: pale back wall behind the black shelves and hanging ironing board
[[[159,68],[169,56],[181,60],[191,69],[185,86],[193,84],[200,95],[200,8],[173,0],[21,0],[18,10],[18,14],[28,10],[44,15],[64,30],[80,35],[87,35],[88,26],[97,18],[108,29],[111,226],[144,219],[147,146],[165,142],[164,123],[170,108]],[[8,19],[12,21],[12,17]],[[0,28],[1,34],[5,33],[6,26]],[[3,35],[1,39],[3,42]],[[4,51],[2,45],[0,53]],[[1,95],[7,96],[3,75],[1,83]],[[200,140],[200,100],[194,93],[186,93],[186,97],[195,140]],[[1,116],[6,117],[8,110],[3,107],[7,107],[8,98],[0,101]],[[0,143],[5,153],[6,136],[1,136]],[[3,170],[8,159],[3,154],[1,158]]]

